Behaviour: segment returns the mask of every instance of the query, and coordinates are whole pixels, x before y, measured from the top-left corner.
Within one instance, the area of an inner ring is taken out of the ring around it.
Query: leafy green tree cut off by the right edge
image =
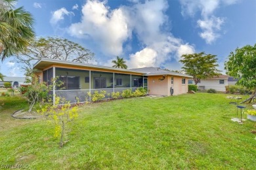
[[[239,79],[236,84],[253,89],[251,97],[242,102],[251,103],[251,99],[256,96],[256,44],[236,48],[234,52],[230,52],[224,65],[227,75]]]

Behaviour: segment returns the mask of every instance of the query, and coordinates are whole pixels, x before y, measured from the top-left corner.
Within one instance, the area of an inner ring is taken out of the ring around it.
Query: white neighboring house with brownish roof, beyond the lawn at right
[[[188,80],[188,84],[195,84],[194,80],[191,80],[191,79]],[[226,92],[225,86],[228,86],[228,76],[219,75],[219,76],[213,76],[213,78],[200,80],[197,86],[198,86],[198,89],[201,89],[201,90],[209,90],[210,88],[212,88],[217,91]]]

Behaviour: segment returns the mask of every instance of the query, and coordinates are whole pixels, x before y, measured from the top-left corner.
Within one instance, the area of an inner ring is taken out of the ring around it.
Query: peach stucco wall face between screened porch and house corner
[[[168,88],[168,77],[165,77],[164,80],[159,81],[158,78],[163,76],[148,76],[148,90],[149,94],[152,95],[170,95]]]

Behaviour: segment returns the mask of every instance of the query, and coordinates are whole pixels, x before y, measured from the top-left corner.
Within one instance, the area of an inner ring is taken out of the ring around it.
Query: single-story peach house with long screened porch
[[[152,95],[179,95],[188,92],[188,78],[192,78],[157,67],[119,69],[45,58],[37,61],[33,69],[37,69],[35,74],[39,81],[50,84],[52,78],[58,77],[58,80],[64,82],[64,89],[53,89],[51,93],[65,97],[71,103],[77,97],[79,101],[85,101],[87,92],[94,93],[95,90],[112,93],[126,89],[135,91],[142,87]]]

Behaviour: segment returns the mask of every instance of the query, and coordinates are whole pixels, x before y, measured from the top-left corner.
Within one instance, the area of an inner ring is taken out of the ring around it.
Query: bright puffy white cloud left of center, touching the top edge
[[[131,32],[122,9],[110,10],[105,1],[87,1],[82,20],[70,26],[70,35],[91,38],[109,55],[120,55]]]

